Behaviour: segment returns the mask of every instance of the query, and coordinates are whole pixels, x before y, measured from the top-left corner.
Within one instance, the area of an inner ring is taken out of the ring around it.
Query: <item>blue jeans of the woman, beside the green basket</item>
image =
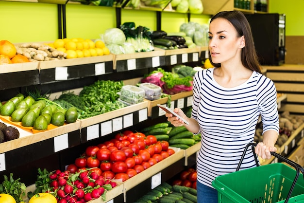
[[[216,189],[203,185],[198,181],[196,189],[198,203],[218,203],[218,191]]]

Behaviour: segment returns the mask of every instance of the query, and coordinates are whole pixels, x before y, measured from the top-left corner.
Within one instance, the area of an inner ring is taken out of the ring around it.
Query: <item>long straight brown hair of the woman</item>
[[[252,71],[261,73],[259,60],[254,48],[251,27],[244,14],[240,11],[221,11],[211,18],[210,23],[216,18],[224,18],[228,20],[235,27],[238,37],[244,36],[245,47],[241,52],[242,64]],[[220,63],[213,63],[211,57],[209,58],[212,65],[220,67]]]

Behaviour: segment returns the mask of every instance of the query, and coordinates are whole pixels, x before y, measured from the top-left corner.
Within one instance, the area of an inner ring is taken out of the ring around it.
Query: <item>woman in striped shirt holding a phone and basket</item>
[[[276,89],[261,74],[250,25],[239,11],[220,12],[211,18],[209,55],[214,68],[193,77],[191,118],[175,108],[189,125],[170,113],[168,121],[194,134],[202,134],[197,158],[199,203],[218,203],[211,183],[220,175],[236,171],[242,152],[253,142],[259,115],[263,123],[263,142],[255,147],[261,158],[271,158],[279,133]],[[240,169],[254,167],[248,150]]]

